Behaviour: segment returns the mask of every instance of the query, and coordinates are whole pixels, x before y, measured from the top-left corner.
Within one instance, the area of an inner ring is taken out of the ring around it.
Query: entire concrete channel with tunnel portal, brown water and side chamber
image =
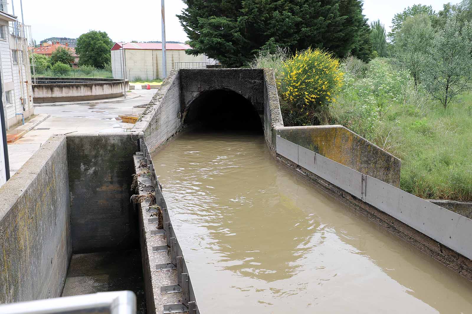
[[[130,132],[51,136],[0,187],[0,303],[471,313],[472,220],[398,189],[400,164],[285,127],[270,69],[172,71]]]

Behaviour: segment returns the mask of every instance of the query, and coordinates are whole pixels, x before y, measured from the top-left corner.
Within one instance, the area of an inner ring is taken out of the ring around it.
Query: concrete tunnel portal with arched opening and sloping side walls
[[[180,69],[172,71],[143,112],[142,130],[150,150],[193,123],[261,128],[271,149],[283,127],[272,69]]]

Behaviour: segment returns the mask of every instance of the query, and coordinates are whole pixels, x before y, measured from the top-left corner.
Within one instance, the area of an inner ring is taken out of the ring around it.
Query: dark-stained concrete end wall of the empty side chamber
[[[67,136],[74,253],[135,248],[137,214],[130,203],[136,133]]]

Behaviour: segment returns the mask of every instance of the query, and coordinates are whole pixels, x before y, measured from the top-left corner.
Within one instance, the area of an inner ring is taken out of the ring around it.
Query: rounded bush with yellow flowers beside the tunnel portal
[[[339,59],[320,49],[307,49],[282,62],[277,78],[285,125],[312,125],[343,86]]]

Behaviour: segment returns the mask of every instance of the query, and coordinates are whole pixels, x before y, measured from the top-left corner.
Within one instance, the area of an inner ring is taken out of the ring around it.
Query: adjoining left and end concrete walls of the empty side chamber
[[[0,303],[60,297],[73,253],[135,248],[136,133],[52,136],[0,188]]]

